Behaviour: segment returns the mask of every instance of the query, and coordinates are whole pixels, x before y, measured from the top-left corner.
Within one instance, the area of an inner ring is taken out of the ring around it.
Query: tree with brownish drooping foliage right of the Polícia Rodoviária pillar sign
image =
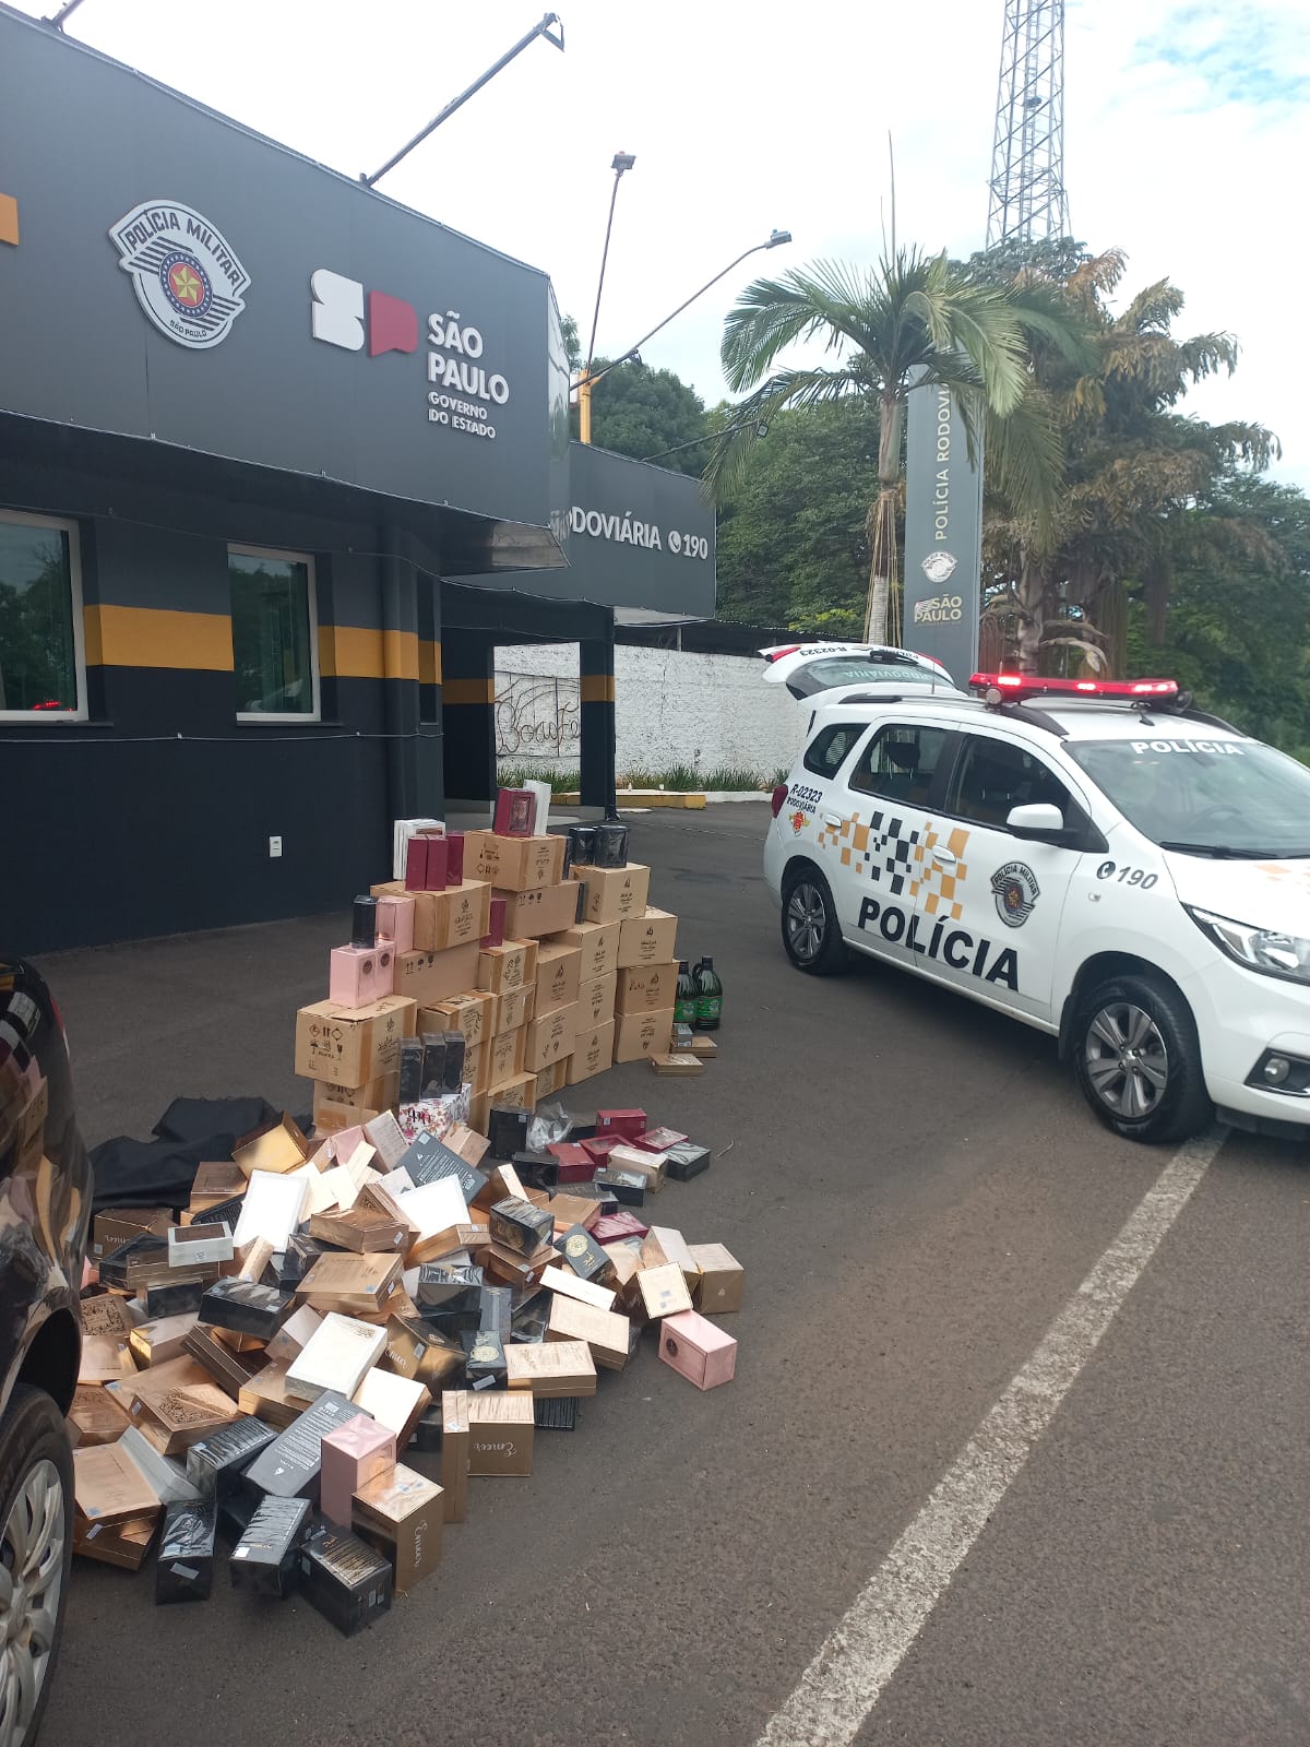
[[[989,611],[1013,627],[1018,666],[1029,673],[1062,646],[1095,671],[1120,666],[1128,582],[1144,589],[1160,641],[1179,542],[1196,540],[1191,505],[1226,470],[1259,472],[1279,454],[1261,425],[1207,425],[1176,411],[1193,383],[1233,374],[1237,342],[1231,334],[1176,339],[1182,293],[1169,280],[1111,314],[1123,271],[1123,253],[1109,250],[1057,276],[1024,269],[1015,281],[1024,297],[1041,290],[1060,299],[1090,344],[1083,363],[1034,346],[1032,400],[1050,409],[1064,449],[1065,491],[1053,514],[1038,522],[999,479],[987,482],[983,550],[1001,578]],[[1233,540],[1251,543],[1235,526],[1216,526],[1209,538],[1212,557]]]

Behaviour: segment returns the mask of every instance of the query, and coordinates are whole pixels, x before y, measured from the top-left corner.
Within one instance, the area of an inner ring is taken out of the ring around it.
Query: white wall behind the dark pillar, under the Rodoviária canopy
[[[791,765],[809,720],[758,655],[615,646],[618,779],[632,769],[737,765],[772,777]],[[557,685],[554,681],[559,681]],[[496,751],[514,763],[578,767],[576,643],[496,650]],[[559,751],[555,753],[555,722]]]

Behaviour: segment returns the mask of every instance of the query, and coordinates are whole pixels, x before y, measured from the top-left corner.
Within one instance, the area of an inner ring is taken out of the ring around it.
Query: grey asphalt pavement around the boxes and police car
[[[58,1747],[751,1747],[1170,1162],[1086,1111],[1051,1039],[861,963],[786,964],[763,805],[632,819],[720,1059],[568,1094],[714,1151],[658,1223],[746,1265],[735,1382],[648,1336],[529,1480],[473,1480],[433,1579],[342,1640],[307,1604],[152,1604],[75,1564]],[[178,1094],[302,1111],[293,1012],[342,917],[52,956],[82,1125]],[[1230,1136],[1004,1488],[854,1740],[1310,1740],[1310,1169]],[[435,1471],[435,1459],[414,1466]],[[791,1740],[851,1738],[814,1721]]]

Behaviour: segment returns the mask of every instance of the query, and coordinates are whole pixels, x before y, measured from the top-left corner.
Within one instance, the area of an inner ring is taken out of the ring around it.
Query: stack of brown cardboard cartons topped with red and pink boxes
[[[405,879],[356,898],[328,999],[295,1024],[320,1132],[390,1109],[410,1136],[486,1134],[493,1104],[534,1109],[611,1062],[704,1069],[713,1038],[674,1039],[678,917],[650,907],[650,868],[564,854],[548,835],[412,837]]]

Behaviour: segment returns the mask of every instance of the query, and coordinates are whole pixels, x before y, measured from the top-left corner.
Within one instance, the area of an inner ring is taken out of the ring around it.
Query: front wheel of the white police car
[[[1081,1006],[1078,1081],[1128,1141],[1182,1141],[1214,1116],[1191,1008],[1163,980],[1116,977]]]

